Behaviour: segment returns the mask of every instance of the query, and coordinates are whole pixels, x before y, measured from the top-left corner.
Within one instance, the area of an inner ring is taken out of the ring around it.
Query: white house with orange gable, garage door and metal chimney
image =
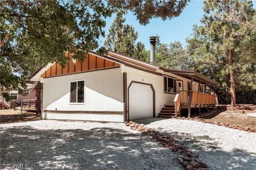
[[[150,37],[150,63],[90,51],[83,62],[67,53],[66,67],[49,63],[38,69],[30,80],[43,85],[42,118],[124,122],[215,106],[220,84],[195,71],[156,66],[155,42]]]

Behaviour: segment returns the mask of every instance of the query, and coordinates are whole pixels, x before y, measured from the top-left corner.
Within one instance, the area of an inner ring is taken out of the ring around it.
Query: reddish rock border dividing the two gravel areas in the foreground
[[[132,121],[126,122],[126,126],[130,126],[133,130],[137,130],[142,134],[152,137],[165,148],[170,149],[175,153],[177,161],[187,170],[207,169],[207,164],[198,158],[197,154],[193,154],[185,146],[174,140],[172,136],[164,136],[159,131],[148,128],[144,124],[135,123]]]

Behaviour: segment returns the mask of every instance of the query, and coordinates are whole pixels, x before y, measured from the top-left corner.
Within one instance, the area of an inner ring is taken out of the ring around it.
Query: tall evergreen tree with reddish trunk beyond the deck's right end
[[[242,16],[241,22],[253,21],[256,12],[251,1],[237,0],[205,1],[204,12],[203,25],[187,39],[188,51],[199,71],[222,82],[235,105],[237,87],[244,83],[255,88],[255,30],[225,18],[230,14]]]

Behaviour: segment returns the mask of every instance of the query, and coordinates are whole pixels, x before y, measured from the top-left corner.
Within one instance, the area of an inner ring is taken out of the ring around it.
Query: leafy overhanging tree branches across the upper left
[[[130,10],[141,24],[147,24],[151,18],[178,16],[186,4],[187,1],[0,1],[0,90],[26,88],[29,76],[47,63],[68,64],[67,51],[78,60],[85,58],[87,50],[106,53],[105,48],[99,47],[99,37],[105,37],[105,19],[119,10]],[[140,44],[137,46],[141,48]]]

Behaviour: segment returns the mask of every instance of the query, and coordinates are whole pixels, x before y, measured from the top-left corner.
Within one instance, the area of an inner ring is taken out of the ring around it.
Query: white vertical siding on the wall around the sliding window
[[[85,103],[70,104],[70,81],[84,80]],[[61,111],[123,112],[123,73],[120,68],[46,78],[43,84],[43,118],[123,122],[123,115],[61,113]]]

